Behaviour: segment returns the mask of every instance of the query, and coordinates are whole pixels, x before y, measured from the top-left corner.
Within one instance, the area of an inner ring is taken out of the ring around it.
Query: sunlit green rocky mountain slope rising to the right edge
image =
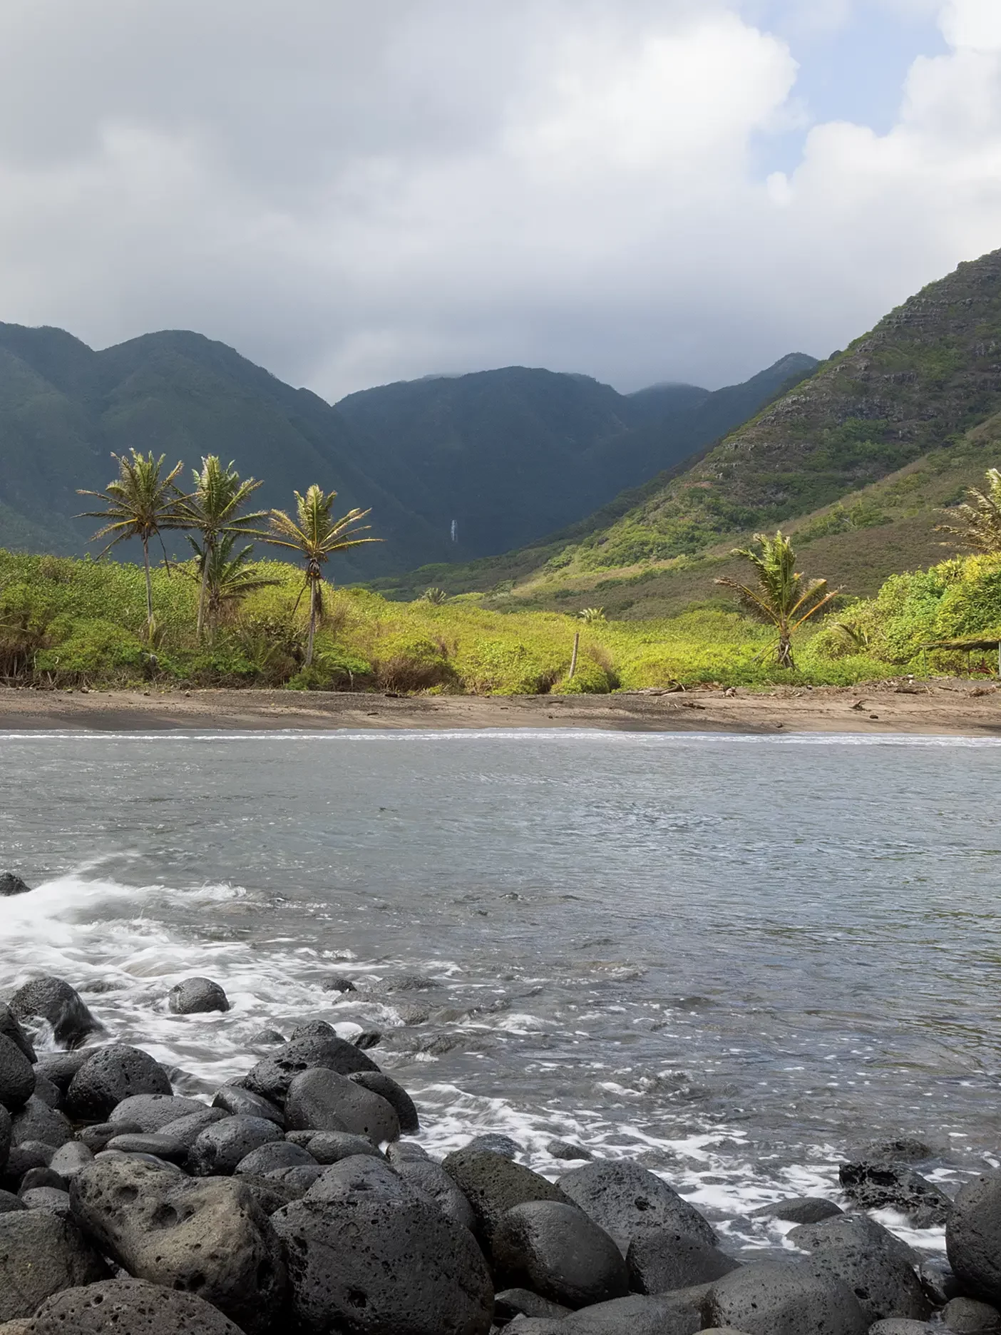
[[[642,583],[674,607],[706,597],[703,563],[781,523],[809,543],[814,573],[874,591],[893,570],[941,559],[932,511],[998,462],[998,411],[1001,251],[929,284],[694,465],[531,549],[395,583],[459,593],[515,581],[538,605],[586,595],[649,610],[623,591]]]

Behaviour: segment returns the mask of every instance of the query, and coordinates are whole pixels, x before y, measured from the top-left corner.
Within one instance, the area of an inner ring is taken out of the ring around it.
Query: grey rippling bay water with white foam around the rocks
[[[211,1093],[322,1017],[483,1131],[663,1173],[735,1247],[874,1137],[1001,1148],[1001,745],[594,732],[0,734],[0,995],[68,979]],[[228,1015],[172,1016],[208,975]],[[358,992],[324,992],[334,975]],[[400,987],[400,983],[404,984]],[[419,984],[419,985],[418,985]],[[941,1250],[941,1231],[909,1231]]]

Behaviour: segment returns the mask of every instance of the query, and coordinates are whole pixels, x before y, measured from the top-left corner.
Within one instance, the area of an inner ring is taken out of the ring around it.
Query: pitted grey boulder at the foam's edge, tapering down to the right
[[[615,1239],[625,1251],[633,1238],[667,1228],[706,1247],[715,1232],[703,1216],[663,1179],[629,1159],[597,1159],[559,1179],[561,1191]]]

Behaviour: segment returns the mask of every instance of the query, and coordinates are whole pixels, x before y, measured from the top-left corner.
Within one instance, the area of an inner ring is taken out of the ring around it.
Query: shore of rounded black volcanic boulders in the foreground
[[[27,889],[0,877],[0,902]],[[230,1005],[208,979],[167,1004]],[[793,1224],[785,1247],[737,1258],[661,1176],[586,1145],[550,1147],[558,1181],[499,1135],[432,1160],[378,1036],[359,1039],[324,1021],[259,1033],[246,1073],[202,1100],[68,981],[9,995],[0,1335],[1001,1331],[1001,1175],[952,1200],[917,1171],[926,1147],[868,1145],[838,1202],[765,1207]],[[868,1212],[888,1207],[944,1224],[948,1264]]]

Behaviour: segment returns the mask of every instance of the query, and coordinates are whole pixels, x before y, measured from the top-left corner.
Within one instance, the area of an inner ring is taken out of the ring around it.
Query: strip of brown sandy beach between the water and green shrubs
[[[272,732],[589,728],[686,733],[1001,737],[1001,689],[936,680],[854,686],[621,692],[611,696],[392,696],[290,690],[0,688],[0,732]]]

